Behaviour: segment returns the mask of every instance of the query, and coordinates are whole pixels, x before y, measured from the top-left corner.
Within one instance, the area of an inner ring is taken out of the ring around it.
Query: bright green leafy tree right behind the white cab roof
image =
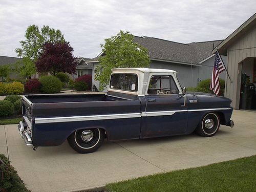
[[[101,90],[109,84],[111,69],[150,66],[147,49],[134,42],[134,36],[127,31],[120,31],[116,36],[106,38],[101,47],[104,56],[99,58],[99,66],[95,72],[95,80],[100,81]]]

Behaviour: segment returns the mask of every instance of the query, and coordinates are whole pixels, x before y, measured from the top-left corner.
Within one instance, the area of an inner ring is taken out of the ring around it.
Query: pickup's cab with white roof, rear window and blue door
[[[185,133],[186,97],[176,71],[148,68],[112,71],[108,94],[139,97],[142,117],[140,138]]]

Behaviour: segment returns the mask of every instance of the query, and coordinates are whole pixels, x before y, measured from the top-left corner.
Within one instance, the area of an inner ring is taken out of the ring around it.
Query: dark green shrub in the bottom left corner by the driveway
[[[0,170],[3,170],[3,178],[0,178],[0,191],[30,191],[4,154],[0,154],[0,160],[4,162],[0,163]]]

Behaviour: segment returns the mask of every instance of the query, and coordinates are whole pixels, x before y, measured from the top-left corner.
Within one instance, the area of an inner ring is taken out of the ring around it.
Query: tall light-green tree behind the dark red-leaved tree
[[[43,26],[41,30],[36,25],[30,25],[25,34],[26,40],[21,40],[22,48],[15,49],[18,57],[23,61],[18,62],[16,71],[21,75],[30,77],[36,73],[35,62],[41,56],[46,43],[65,42],[65,38],[60,30],[55,30],[49,26]],[[22,63],[22,64],[21,64]]]

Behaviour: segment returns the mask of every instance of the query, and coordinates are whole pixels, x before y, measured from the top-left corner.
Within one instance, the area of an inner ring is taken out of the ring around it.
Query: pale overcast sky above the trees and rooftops
[[[75,56],[93,58],[120,30],[182,43],[219,40],[255,11],[255,0],[0,0],[0,55],[16,57],[32,24],[59,29]]]

